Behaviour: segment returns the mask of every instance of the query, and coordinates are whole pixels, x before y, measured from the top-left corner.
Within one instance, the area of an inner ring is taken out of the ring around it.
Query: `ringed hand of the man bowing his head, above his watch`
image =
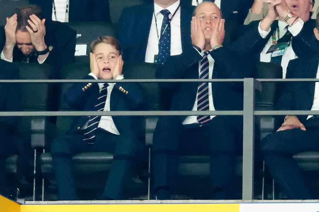
[[[31,15],[28,20],[31,28],[26,26],[26,29],[31,35],[31,41],[37,51],[43,51],[47,48],[44,42],[45,36],[45,19],[40,20],[36,15]]]

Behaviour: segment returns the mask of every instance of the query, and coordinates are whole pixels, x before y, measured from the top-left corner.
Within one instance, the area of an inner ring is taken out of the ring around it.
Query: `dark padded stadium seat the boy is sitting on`
[[[149,76],[155,76],[155,69],[151,69],[152,65],[149,64],[125,64],[123,72],[125,77],[129,79],[142,79],[149,78]],[[69,64],[63,68],[63,79],[82,79],[90,72],[89,64]],[[156,88],[149,84],[141,85],[146,92],[148,99],[154,99],[154,92],[157,92]],[[59,110],[70,111],[70,107],[63,99],[63,94],[69,88],[71,84],[62,85],[61,101]],[[149,106],[151,107],[151,106]],[[152,106],[156,107],[156,106]],[[70,128],[73,117],[61,116],[57,118],[56,122],[56,134],[57,136],[64,135]],[[145,121],[141,120],[140,125],[143,126]],[[144,127],[144,126],[143,126]],[[141,130],[141,133],[145,133],[145,130]],[[144,140],[144,136],[141,139]],[[105,181],[110,165],[113,161],[113,154],[111,153],[81,153],[73,157],[74,171],[76,174],[77,188],[81,189],[101,189],[104,188]],[[146,167],[146,166],[145,166]],[[41,168],[45,178],[51,181],[52,184],[56,184],[54,178],[54,172],[52,167],[52,157],[50,153],[44,153],[41,155]],[[99,174],[94,174],[94,173]],[[147,172],[147,171],[146,171]],[[128,198],[134,198],[136,196],[146,195],[146,184],[142,183],[140,179],[146,179],[147,173],[142,172],[143,176],[137,177],[133,175],[128,182],[127,196]],[[144,177],[144,178],[143,178]],[[141,193],[138,193],[141,192]],[[98,198],[98,192],[95,192],[95,198]],[[87,196],[85,198],[88,198]]]

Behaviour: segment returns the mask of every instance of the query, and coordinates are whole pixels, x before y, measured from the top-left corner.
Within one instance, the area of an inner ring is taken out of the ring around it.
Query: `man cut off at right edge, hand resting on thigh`
[[[319,40],[318,30],[319,15],[317,15],[314,29],[317,40]],[[291,60],[286,78],[318,79],[318,64],[318,54]],[[286,82],[276,109],[319,110],[319,83]],[[277,132],[266,136],[261,141],[265,164],[275,182],[284,189],[289,199],[317,199],[318,194],[310,191],[310,185],[293,159],[293,155],[319,151],[319,116],[287,115],[280,119],[284,123]]]

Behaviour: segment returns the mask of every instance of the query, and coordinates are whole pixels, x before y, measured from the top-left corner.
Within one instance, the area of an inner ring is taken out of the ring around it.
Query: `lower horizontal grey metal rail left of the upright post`
[[[198,116],[243,115],[243,111],[21,111],[0,112],[1,116]]]

